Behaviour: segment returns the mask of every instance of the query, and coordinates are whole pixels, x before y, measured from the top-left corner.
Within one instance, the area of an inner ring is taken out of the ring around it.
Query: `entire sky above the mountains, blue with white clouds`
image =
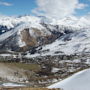
[[[43,15],[63,18],[90,14],[90,0],[0,0],[1,15]]]

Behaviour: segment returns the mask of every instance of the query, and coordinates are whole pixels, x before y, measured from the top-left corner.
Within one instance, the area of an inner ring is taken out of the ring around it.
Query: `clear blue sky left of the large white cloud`
[[[5,15],[24,15],[31,14],[36,7],[35,0],[3,0],[11,3],[10,6],[0,5],[0,13]]]

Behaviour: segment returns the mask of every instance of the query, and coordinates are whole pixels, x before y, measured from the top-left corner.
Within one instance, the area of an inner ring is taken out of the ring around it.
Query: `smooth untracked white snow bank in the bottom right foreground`
[[[48,88],[61,88],[63,90],[90,90],[90,69],[80,71],[61,82],[49,86]]]

